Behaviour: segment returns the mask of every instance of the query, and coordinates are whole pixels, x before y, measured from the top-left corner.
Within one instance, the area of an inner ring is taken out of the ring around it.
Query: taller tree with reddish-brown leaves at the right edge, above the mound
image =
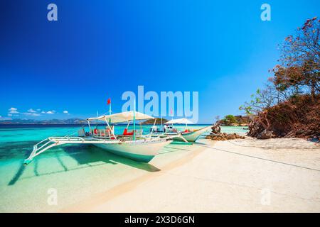
[[[320,20],[306,20],[296,35],[289,35],[280,46],[280,65],[274,72],[279,92],[319,94],[320,92]]]

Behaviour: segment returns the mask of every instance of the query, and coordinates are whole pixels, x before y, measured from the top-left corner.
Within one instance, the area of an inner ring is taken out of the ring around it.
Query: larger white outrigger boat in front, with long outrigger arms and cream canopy
[[[135,128],[135,123],[137,120],[152,119],[154,117],[148,116],[146,114],[139,113],[137,111],[127,111],[119,114],[110,114],[104,116],[98,116],[96,118],[87,118],[87,125],[89,126],[89,131],[85,132],[82,128],[78,131],[78,136],[65,135],[63,137],[49,137],[42,140],[33,146],[33,151],[31,155],[24,160],[23,164],[28,165],[34,157],[40,155],[46,150],[53,148],[57,145],[63,144],[92,144],[99,148],[105,149],[110,153],[116,155],[122,155],[124,157],[129,157],[132,160],[137,160],[139,162],[149,162],[158,151],[165,145],[171,143],[171,140],[176,137],[181,137],[181,135],[171,135],[171,136],[152,136],[142,135],[138,133]],[[90,121],[104,121],[107,124],[105,129],[92,128]],[[110,126],[111,123],[124,123],[133,121],[134,130],[132,132],[127,132],[127,128],[124,130],[122,135],[114,134],[114,127]],[[181,140],[184,140],[181,138]],[[184,140],[186,141],[186,140]]]

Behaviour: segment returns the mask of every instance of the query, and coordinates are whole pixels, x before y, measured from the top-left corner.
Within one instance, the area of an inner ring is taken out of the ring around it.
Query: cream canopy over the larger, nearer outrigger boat
[[[111,123],[121,123],[127,121],[135,120],[147,120],[147,119],[154,119],[153,116],[149,116],[146,114],[142,114],[140,112],[135,111],[126,111],[119,114],[110,114],[110,115],[103,115],[98,116],[96,118],[87,118],[87,121],[110,121]]]

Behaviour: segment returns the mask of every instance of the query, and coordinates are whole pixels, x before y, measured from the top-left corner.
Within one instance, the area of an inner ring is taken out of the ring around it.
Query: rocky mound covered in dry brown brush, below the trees
[[[247,135],[258,138],[320,138],[320,94],[295,96],[260,112]]]

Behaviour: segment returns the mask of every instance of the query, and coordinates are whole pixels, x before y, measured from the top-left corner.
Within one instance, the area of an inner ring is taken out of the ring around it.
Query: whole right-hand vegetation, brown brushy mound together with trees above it
[[[279,64],[263,89],[240,106],[255,116],[248,135],[257,138],[320,136],[320,20],[307,19],[279,45]]]

